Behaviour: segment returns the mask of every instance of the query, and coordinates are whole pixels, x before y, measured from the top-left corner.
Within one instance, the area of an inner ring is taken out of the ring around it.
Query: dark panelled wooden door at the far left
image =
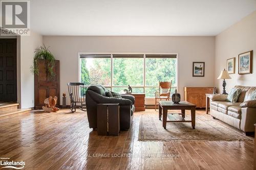
[[[0,38],[0,102],[17,101],[16,46],[16,38]]]

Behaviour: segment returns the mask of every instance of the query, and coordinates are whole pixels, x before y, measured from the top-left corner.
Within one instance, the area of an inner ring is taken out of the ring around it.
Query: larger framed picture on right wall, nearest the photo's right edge
[[[238,74],[252,73],[252,51],[238,55]]]

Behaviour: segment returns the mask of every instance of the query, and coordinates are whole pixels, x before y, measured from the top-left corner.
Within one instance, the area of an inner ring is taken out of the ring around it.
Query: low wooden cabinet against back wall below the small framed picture
[[[213,91],[213,87],[184,87],[184,99],[197,105],[198,108],[205,108],[205,94],[212,93]]]

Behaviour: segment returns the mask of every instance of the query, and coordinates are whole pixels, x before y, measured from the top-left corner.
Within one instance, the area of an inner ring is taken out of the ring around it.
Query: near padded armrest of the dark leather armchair
[[[86,92],[88,93],[88,95],[90,95],[90,97],[96,103],[109,103],[109,104],[119,103],[120,106],[132,106],[133,105],[133,102],[128,99],[109,98],[109,97],[100,95],[92,90],[87,90]]]

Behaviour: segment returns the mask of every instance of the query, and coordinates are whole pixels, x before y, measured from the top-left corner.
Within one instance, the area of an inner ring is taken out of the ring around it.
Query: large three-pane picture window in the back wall
[[[176,54],[83,54],[79,63],[79,80],[86,86],[122,93],[130,85],[146,98],[154,98],[159,82],[172,80],[172,92],[177,88]]]

